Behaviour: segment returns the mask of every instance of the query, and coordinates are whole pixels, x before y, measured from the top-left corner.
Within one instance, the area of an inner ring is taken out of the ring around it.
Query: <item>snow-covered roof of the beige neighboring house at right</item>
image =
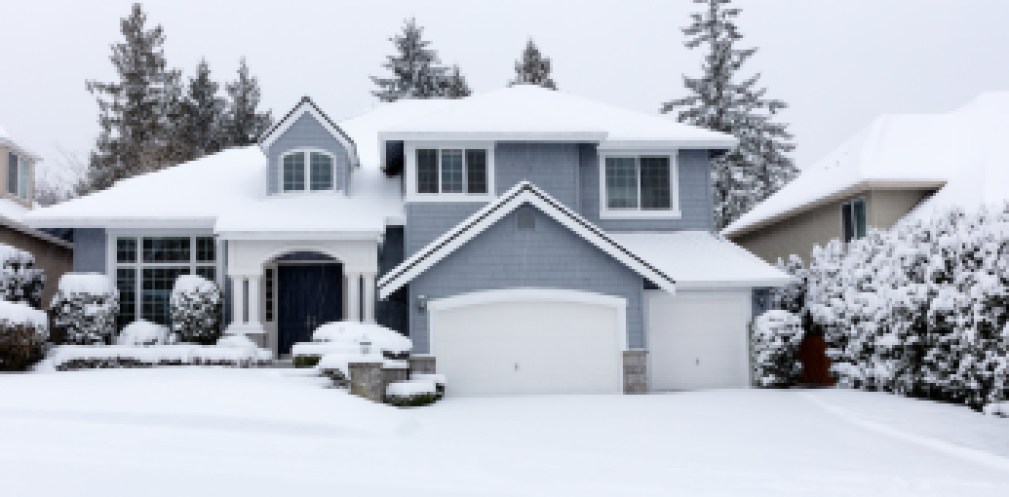
[[[1009,92],[993,92],[946,114],[884,115],[723,231],[740,235],[873,188],[938,192],[912,217],[1009,200]]]

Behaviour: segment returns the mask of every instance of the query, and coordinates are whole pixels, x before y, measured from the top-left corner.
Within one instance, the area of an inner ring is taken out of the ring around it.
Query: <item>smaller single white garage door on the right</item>
[[[653,390],[750,384],[749,291],[648,291]]]

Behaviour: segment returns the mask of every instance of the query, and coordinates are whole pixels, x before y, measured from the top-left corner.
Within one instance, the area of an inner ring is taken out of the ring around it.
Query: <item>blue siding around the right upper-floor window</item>
[[[711,231],[714,229],[711,168],[707,150],[680,150],[678,192],[680,219],[601,220],[599,219],[599,155],[595,145],[580,146],[581,205],[585,219],[605,231]]]

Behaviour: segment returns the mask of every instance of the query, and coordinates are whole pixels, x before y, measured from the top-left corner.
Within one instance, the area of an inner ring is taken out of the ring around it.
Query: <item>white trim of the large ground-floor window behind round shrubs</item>
[[[144,262],[143,261],[143,239],[144,238],[190,238],[190,260],[188,262]],[[119,238],[133,238],[136,240],[136,261],[119,262],[116,254]],[[197,262],[196,260],[196,239],[214,238],[214,261]],[[224,292],[224,243],[219,238],[214,237],[214,233],[204,230],[162,230],[162,231],[136,231],[136,230],[109,230],[106,232],[105,242],[105,275],[118,288],[118,269],[133,268],[133,317],[135,320],[145,319],[143,313],[143,269],[147,267],[179,267],[189,266],[190,274],[196,274],[197,267],[214,267],[214,282],[217,287]],[[123,325],[129,325],[125,323]]]

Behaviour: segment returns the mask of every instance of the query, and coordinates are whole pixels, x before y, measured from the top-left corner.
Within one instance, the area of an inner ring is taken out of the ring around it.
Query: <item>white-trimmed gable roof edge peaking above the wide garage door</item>
[[[521,181],[498,197],[497,200],[476,211],[382,276],[378,280],[379,298],[385,298],[402,288],[412,279],[483,233],[504,216],[526,204],[535,206],[585,241],[648,278],[660,288],[670,292],[675,291],[676,282],[662,270],[625,248],[601,229],[565,207],[546,192],[529,181]]]

